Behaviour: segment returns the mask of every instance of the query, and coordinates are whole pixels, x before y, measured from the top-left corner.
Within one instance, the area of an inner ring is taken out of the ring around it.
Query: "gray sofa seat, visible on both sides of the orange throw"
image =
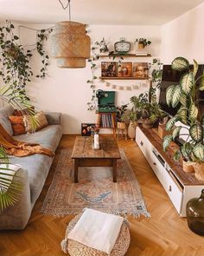
[[[15,139],[18,141],[39,143],[42,147],[54,152],[61,140],[61,126],[50,125],[34,134],[15,136]],[[35,204],[35,200],[41,194],[41,189],[48,176],[52,161],[52,157],[44,154],[33,154],[26,157],[10,156],[11,163],[19,164],[28,171],[32,205]]]

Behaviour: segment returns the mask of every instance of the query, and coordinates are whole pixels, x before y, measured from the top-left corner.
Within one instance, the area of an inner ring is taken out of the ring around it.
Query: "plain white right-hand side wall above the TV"
[[[161,59],[164,64],[176,56],[204,63],[204,3],[162,27]]]

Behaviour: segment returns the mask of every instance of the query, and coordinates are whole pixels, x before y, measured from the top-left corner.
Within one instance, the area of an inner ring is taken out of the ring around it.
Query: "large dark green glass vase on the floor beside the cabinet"
[[[194,233],[204,235],[204,189],[199,198],[193,198],[187,203],[188,227]]]

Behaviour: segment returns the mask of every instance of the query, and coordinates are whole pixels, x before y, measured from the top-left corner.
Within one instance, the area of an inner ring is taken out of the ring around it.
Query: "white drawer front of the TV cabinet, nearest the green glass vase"
[[[171,177],[170,172],[164,170],[163,172],[163,187],[165,188],[167,194],[169,195],[170,200],[172,201],[175,209],[178,213],[181,213],[182,209],[182,189],[179,187],[174,179]]]

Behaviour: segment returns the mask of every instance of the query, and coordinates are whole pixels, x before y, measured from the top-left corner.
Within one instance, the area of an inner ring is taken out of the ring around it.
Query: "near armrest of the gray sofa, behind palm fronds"
[[[0,213],[0,230],[23,229],[31,214],[29,176],[27,170],[21,167],[16,171],[13,181],[22,182],[22,192],[19,200]]]

